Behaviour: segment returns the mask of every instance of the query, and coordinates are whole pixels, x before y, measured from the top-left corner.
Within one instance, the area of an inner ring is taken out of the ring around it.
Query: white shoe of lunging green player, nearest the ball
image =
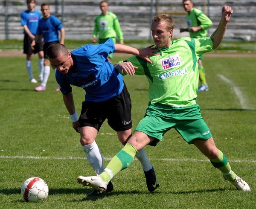
[[[81,183],[84,186],[90,186],[98,191],[105,192],[108,186],[108,183],[103,181],[99,175],[96,176],[79,176],[76,178],[78,183]]]

